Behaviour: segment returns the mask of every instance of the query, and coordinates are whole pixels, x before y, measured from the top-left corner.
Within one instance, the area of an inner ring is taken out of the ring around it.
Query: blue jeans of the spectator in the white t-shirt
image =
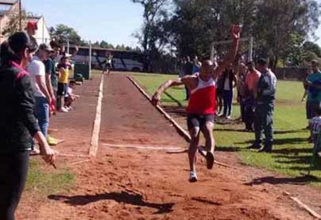
[[[47,137],[49,126],[49,104],[45,97],[36,96],[35,114],[43,136]]]

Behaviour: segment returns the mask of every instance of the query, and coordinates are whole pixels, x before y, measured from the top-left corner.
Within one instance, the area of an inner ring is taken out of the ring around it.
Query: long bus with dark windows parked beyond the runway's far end
[[[72,61],[75,63],[89,63],[89,47],[78,46],[78,53],[72,56]],[[73,54],[75,46],[70,46],[69,53]],[[105,65],[106,55],[112,57],[112,69],[121,71],[143,71],[144,56],[137,51],[124,51],[106,48],[92,48],[91,64],[92,68],[102,69]]]

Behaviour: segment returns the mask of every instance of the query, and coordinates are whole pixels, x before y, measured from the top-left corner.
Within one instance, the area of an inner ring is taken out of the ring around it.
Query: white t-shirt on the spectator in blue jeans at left
[[[40,96],[40,97],[46,97],[40,90],[37,81],[36,81],[36,76],[43,76],[45,77],[46,71],[45,71],[45,66],[42,63],[42,61],[35,55],[33,57],[33,60],[28,64],[27,66],[27,71],[30,73],[32,76],[32,80],[35,85],[35,96]]]

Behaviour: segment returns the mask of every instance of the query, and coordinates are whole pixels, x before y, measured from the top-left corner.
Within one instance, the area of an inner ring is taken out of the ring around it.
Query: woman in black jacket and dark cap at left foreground
[[[33,82],[24,67],[36,46],[16,32],[0,48],[0,220],[14,220],[25,186],[34,137],[49,164],[55,155],[40,132],[34,115]]]

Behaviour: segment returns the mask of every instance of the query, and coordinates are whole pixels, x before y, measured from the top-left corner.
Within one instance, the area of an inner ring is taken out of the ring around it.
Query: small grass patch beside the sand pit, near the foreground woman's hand
[[[42,166],[43,167],[43,166]],[[49,171],[48,171],[49,170]],[[26,190],[48,195],[70,189],[75,177],[67,168],[44,170],[37,159],[30,160]]]

